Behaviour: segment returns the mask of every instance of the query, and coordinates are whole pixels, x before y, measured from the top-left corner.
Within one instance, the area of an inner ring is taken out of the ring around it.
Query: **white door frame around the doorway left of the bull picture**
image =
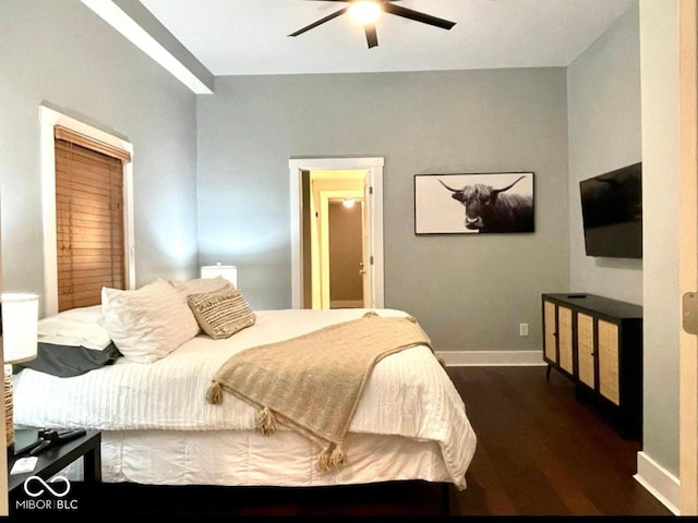
[[[288,162],[291,193],[291,307],[301,308],[303,289],[303,250],[301,224],[302,171],[365,170],[373,187],[370,205],[371,251],[373,256],[373,289],[375,308],[384,306],[383,291],[383,166],[384,158],[300,158]],[[368,204],[368,203],[366,203]]]

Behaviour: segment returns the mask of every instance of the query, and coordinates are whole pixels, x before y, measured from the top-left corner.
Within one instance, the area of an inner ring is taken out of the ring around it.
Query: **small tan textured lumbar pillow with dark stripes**
[[[254,312],[237,289],[191,294],[186,303],[202,330],[214,340],[230,338],[256,321]]]

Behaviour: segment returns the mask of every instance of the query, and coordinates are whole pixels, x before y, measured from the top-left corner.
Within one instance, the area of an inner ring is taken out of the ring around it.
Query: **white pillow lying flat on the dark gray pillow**
[[[100,305],[71,308],[53,314],[39,319],[38,341],[101,351],[111,343],[111,337],[100,325]]]

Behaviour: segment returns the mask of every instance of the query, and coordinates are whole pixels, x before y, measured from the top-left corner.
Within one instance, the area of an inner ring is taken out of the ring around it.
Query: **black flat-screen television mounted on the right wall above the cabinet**
[[[579,182],[587,256],[642,257],[642,163]]]

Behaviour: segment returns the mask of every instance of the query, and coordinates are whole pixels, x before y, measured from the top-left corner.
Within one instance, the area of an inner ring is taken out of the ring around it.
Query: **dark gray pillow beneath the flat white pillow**
[[[60,378],[80,376],[105,365],[113,365],[121,356],[117,345],[111,342],[101,351],[73,345],[55,345],[37,343],[37,355],[34,360],[13,365],[14,374],[24,368],[50,374]]]

